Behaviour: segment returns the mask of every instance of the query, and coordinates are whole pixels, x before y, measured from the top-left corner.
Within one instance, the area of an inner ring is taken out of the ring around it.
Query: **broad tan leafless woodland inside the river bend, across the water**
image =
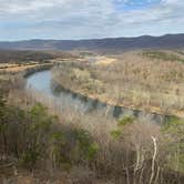
[[[172,57],[171,57],[172,55]],[[184,64],[174,51],[126,52],[65,62],[53,79],[73,91],[133,109],[184,115]]]

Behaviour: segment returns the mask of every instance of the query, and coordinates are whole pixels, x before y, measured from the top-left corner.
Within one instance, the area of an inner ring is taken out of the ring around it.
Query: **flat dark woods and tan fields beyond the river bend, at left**
[[[0,50],[0,79],[44,70],[62,60],[76,59],[76,53],[62,51],[16,51]]]

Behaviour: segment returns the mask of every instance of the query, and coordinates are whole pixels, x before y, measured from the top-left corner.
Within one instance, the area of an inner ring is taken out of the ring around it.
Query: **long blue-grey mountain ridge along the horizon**
[[[28,40],[0,42],[8,50],[135,50],[184,48],[184,34],[137,38],[110,38],[92,40]]]

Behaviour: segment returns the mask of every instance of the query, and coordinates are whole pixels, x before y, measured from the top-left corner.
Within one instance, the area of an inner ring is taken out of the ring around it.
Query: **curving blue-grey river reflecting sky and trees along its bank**
[[[78,111],[81,113],[89,113],[98,111],[103,114],[120,117],[124,115],[143,116],[147,115],[156,123],[161,123],[164,120],[163,115],[143,112],[139,110],[131,110],[123,106],[113,106],[102,103],[98,100],[92,100],[80,94],[71,93],[62,88],[54,86],[52,82],[51,70],[39,71],[27,78],[27,90],[33,89],[44,95],[47,99],[51,99],[58,105],[58,109]]]

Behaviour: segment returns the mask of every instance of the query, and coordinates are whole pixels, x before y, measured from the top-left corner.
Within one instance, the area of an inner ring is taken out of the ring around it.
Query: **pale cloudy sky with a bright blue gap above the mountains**
[[[184,0],[0,0],[0,40],[184,32]]]

